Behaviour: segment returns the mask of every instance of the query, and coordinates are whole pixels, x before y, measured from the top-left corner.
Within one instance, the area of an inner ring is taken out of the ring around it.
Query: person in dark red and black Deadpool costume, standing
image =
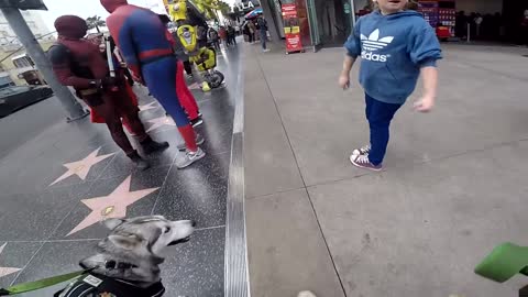
[[[123,76],[111,77],[99,46],[84,38],[86,21],[75,15],[63,15],[55,21],[57,43],[48,51],[50,61],[61,84],[72,86],[92,110],[105,119],[113,141],[140,169],[148,168],[124,134],[121,118],[128,120],[145,153],[163,150],[168,143],[153,141],[145,132],[124,88]]]

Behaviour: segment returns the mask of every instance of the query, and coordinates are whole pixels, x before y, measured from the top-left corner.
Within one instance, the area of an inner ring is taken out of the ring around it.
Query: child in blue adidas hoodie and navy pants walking
[[[378,10],[358,20],[344,47],[339,85],[350,86],[350,70],[361,56],[360,82],[365,90],[366,120],[371,143],[353,151],[353,165],[383,169],[394,114],[424,78],[425,92],[415,110],[428,112],[437,97],[437,61],[441,50],[433,29],[416,11],[406,11],[407,0],[374,0]]]

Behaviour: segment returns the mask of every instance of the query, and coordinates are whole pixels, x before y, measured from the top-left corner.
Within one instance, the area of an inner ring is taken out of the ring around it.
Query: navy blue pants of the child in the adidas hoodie
[[[374,165],[380,165],[387,152],[389,138],[389,127],[394,114],[402,105],[392,105],[378,101],[365,94],[366,119],[371,128],[371,153],[369,161]]]

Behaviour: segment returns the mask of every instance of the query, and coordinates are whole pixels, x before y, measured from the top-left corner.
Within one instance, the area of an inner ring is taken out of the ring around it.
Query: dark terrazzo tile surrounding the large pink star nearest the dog
[[[151,215],[151,211],[154,207],[154,204],[158,197],[163,182],[167,176],[170,166],[151,168],[145,172],[136,172],[132,175],[130,183],[130,191],[150,189],[150,188],[160,188],[158,190],[146,195],[140,200],[135,201],[131,206],[127,207],[127,217],[139,217]],[[92,189],[89,193],[85,194],[82,199],[91,199],[97,197],[103,197],[110,195],[119,185],[121,185],[125,177],[112,178],[108,180],[98,180],[95,183]],[[110,205],[109,205],[110,207]],[[90,208],[84,205],[81,201],[77,202],[74,206],[72,213],[63,221],[58,227],[57,231],[53,234],[53,239],[62,240],[75,240],[75,239],[99,239],[105,237],[108,231],[100,223],[95,223],[84,230],[80,230],[76,233],[67,234],[74,230],[87,216],[91,213]]]

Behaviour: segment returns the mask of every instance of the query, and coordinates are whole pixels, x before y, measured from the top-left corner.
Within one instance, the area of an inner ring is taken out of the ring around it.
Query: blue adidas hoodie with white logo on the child
[[[351,57],[362,58],[365,92],[386,103],[403,105],[416,88],[420,68],[442,58],[433,29],[416,11],[360,18],[344,47]]]

